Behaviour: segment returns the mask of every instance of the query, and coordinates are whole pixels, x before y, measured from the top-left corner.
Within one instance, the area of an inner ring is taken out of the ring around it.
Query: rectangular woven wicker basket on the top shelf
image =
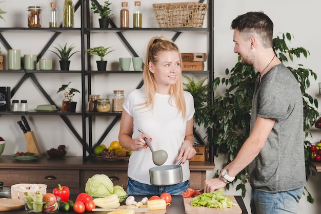
[[[159,28],[202,28],[207,4],[182,2],[153,4]]]

